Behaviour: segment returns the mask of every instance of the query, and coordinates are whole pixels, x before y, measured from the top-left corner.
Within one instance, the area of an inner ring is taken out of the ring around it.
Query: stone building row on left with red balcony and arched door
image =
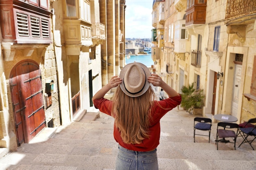
[[[125,0],[0,0],[0,148],[94,111],[124,66],[124,13]]]

